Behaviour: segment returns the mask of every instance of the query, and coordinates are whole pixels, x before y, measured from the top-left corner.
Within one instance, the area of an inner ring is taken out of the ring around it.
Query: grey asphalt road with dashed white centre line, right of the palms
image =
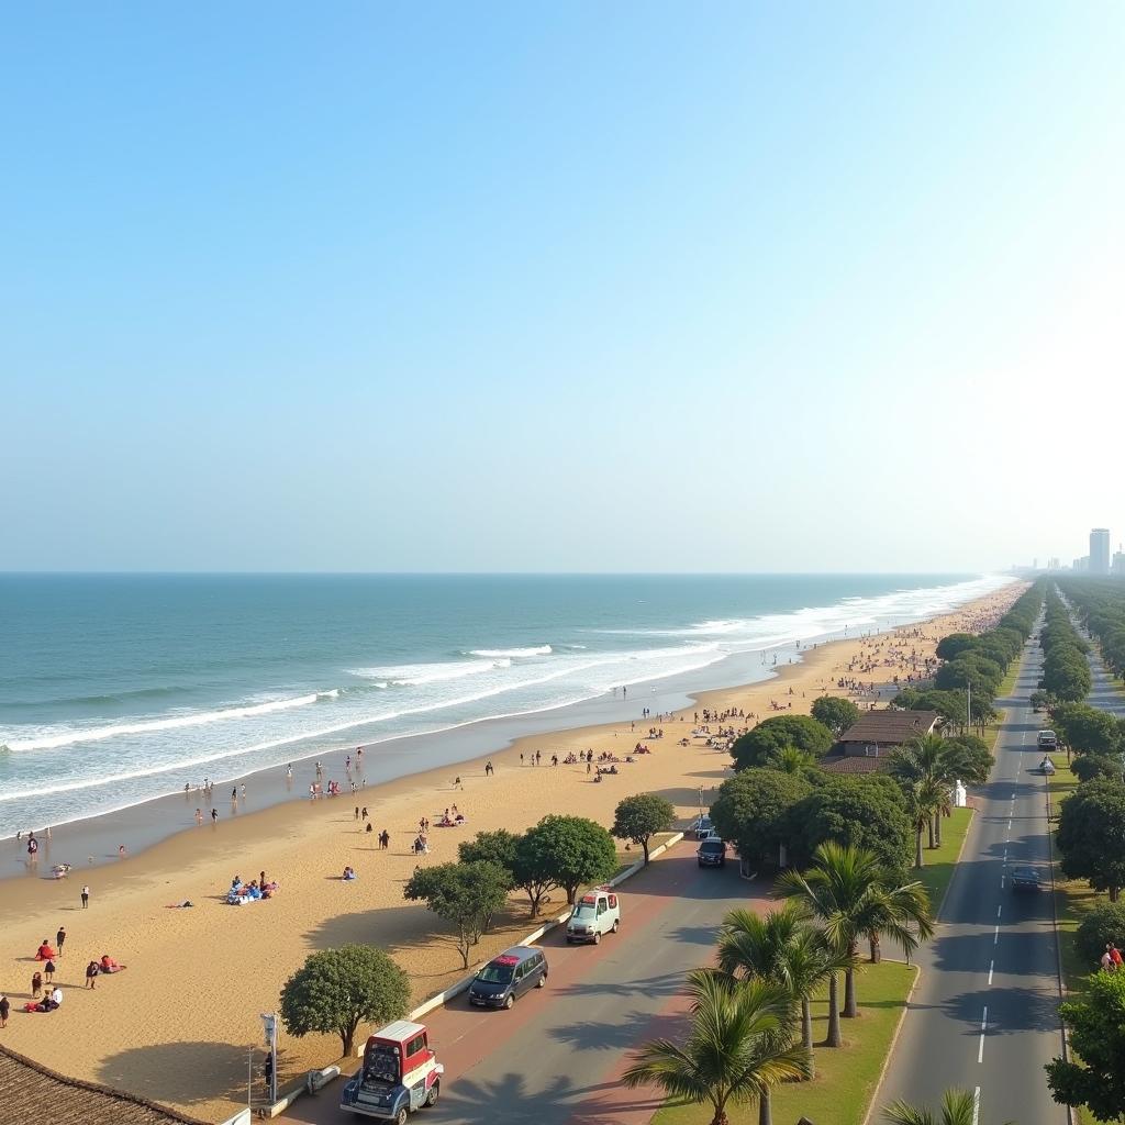
[[[979,1091],[980,1120],[1064,1125],[1043,1066],[1062,1047],[1051,896],[1012,893],[1006,871],[1030,864],[1050,878],[1045,780],[1036,772],[1038,717],[1027,696],[1042,654],[1024,651],[1015,698],[1001,700],[992,777],[976,801],[962,862],[902,1026],[881,1105],[936,1108],[948,1087]]]

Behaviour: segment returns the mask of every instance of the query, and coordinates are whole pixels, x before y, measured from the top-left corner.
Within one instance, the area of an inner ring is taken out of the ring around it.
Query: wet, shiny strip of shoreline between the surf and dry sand
[[[983,598],[963,603],[948,613],[960,613],[976,601],[987,601],[1002,594],[1005,590],[1011,588],[1011,585],[1009,583],[984,595]],[[945,614],[938,616],[942,615]],[[482,757],[483,760],[483,756],[489,753],[507,752],[523,738],[552,734],[565,736],[574,730],[628,722],[637,718],[640,706],[648,706],[655,713],[675,713],[700,703],[700,700],[710,693],[735,692],[770,683],[778,678],[783,669],[802,666],[810,652],[825,646],[886,636],[899,629],[916,628],[936,619],[903,621],[881,631],[872,629],[852,636],[845,629],[804,641],[788,640],[762,649],[728,654],[712,664],[687,673],[675,673],[630,684],[629,687],[636,692],[631,699],[618,699],[615,693],[613,695],[603,693],[551,708],[472,719],[433,731],[395,736],[357,746],[341,744],[333,752],[341,756],[354,754],[356,749],[362,746],[364,755],[362,768],[345,774],[342,763],[333,763],[326,766],[323,776],[320,776],[314,764],[317,758],[327,759],[327,755],[322,750],[292,758],[291,778],[285,776],[284,766],[276,765],[236,774],[222,782],[216,780],[209,800],[204,791],[197,788],[186,793],[165,793],[125,804],[112,811],[52,825],[50,829],[33,829],[39,842],[39,852],[34,865],[28,862],[26,852],[27,830],[20,829],[20,836],[7,836],[0,839],[0,848],[7,853],[4,862],[0,863],[0,885],[10,885],[21,879],[53,881],[51,871],[55,864],[69,864],[72,878],[83,871],[100,872],[107,865],[120,862],[122,847],[125,848],[126,856],[144,855],[162,840],[180,832],[190,832],[196,828],[196,809],[201,811],[208,822],[212,809],[217,810],[220,821],[241,820],[255,817],[277,806],[294,802],[310,803],[309,784],[321,782],[326,790],[330,780],[340,782],[339,795],[345,799],[351,795],[349,782],[356,780],[359,785],[356,798],[360,799],[368,786],[384,786],[431,770],[448,770],[459,765],[468,767],[477,757]],[[786,663],[767,665],[766,655],[784,658]],[[726,675],[719,676],[721,669],[727,669]],[[700,703],[700,705],[705,704]],[[415,752],[422,746],[425,746],[428,763],[418,768],[411,758],[416,756]],[[245,788],[249,801],[244,799],[233,801],[227,786],[238,793]],[[51,835],[45,836],[46,831]]]

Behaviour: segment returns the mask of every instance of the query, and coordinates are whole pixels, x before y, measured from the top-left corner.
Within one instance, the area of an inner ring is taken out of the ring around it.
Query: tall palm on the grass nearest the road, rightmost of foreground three
[[[858,955],[862,937],[871,944],[871,960],[878,962],[884,936],[897,939],[909,957],[919,940],[934,933],[929,897],[921,883],[899,885],[874,853],[850,844],[826,840],[813,853],[812,866],[803,874],[784,872],[774,893],[799,899],[821,924],[832,947],[852,958]],[[852,1019],[857,1014],[853,965],[844,973],[844,1016]]]

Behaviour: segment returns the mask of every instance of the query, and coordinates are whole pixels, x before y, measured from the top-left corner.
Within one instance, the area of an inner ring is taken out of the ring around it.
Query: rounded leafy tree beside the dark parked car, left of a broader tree
[[[711,806],[716,831],[730,840],[744,863],[781,864],[782,845],[793,838],[793,810],[812,790],[799,774],[744,770],[719,786]]]

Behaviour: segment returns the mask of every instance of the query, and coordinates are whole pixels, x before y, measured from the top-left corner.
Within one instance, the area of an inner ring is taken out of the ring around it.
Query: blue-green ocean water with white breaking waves
[[[703,668],[718,685],[732,654],[917,621],[1005,580],[0,575],[0,836]]]

